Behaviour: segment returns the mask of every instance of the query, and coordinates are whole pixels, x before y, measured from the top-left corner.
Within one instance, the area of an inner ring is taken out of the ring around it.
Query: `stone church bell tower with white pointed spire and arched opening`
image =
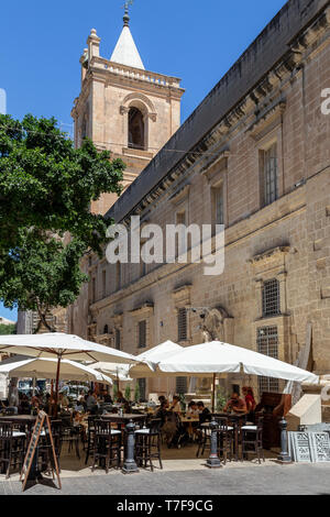
[[[75,144],[84,138],[127,164],[127,188],[180,125],[180,79],[147,72],[130,30],[128,2],[114,51],[100,56],[100,37],[91,30],[80,58],[81,91],[75,100]],[[105,194],[91,210],[105,215],[118,199]]]

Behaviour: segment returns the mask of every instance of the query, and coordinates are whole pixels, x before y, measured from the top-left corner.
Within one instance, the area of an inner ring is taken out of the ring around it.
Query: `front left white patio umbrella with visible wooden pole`
[[[58,380],[63,359],[76,361],[111,361],[131,364],[135,358],[120,350],[87,341],[78,336],[52,332],[44,334],[0,336],[0,352],[19,353],[33,358],[57,359],[55,398],[58,397]]]

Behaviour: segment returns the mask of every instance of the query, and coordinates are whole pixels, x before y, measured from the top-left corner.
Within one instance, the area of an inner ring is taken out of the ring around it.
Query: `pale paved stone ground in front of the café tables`
[[[223,468],[217,471],[120,472],[64,477],[63,490],[38,484],[24,495],[330,495],[330,464]],[[0,481],[0,495],[22,494],[18,481]]]

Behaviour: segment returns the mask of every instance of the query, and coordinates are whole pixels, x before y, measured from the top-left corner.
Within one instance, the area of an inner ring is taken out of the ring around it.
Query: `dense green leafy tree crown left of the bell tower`
[[[121,193],[125,165],[110,158],[87,139],[75,148],[55,119],[0,116],[0,298],[36,310],[48,330],[47,314],[87,280],[84,254],[102,255],[112,221],[91,213],[90,201]]]

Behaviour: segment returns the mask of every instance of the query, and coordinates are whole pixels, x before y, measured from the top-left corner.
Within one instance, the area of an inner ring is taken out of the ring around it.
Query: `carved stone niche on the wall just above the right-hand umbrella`
[[[234,342],[234,319],[222,307],[208,312],[201,330],[206,342],[222,341],[230,344]]]

